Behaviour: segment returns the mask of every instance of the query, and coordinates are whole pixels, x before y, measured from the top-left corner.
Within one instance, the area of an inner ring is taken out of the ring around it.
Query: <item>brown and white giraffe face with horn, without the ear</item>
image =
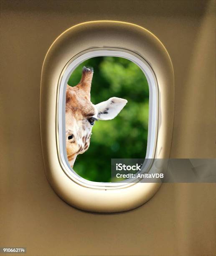
[[[71,167],[76,156],[89,148],[93,126],[89,118],[97,114],[90,101],[92,76],[93,69],[84,67],[79,84],[66,89],[66,151]]]

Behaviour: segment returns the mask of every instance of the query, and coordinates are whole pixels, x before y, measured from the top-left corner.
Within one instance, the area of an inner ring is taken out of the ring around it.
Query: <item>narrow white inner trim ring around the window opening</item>
[[[140,180],[127,179],[124,182],[92,182],[80,177],[74,170],[71,170],[71,166],[67,161],[66,154],[66,142],[65,142],[65,97],[66,97],[66,86],[71,76],[71,73],[86,59],[91,59],[97,56],[115,56],[122,57],[134,62],[142,72],[145,74],[145,77],[148,82],[149,87],[149,120],[148,120],[148,138],[147,138],[147,151],[146,155],[143,155],[145,161],[145,168],[142,170],[142,173],[149,172],[150,166],[152,165],[152,159],[155,156],[155,144],[157,138],[157,125],[158,125],[158,84],[155,78],[155,74],[147,62],[131,51],[125,51],[125,49],[106,49],[106,50],[97,50],[93,49],[80,56],[77,56],[76,59],[73,59],[70,64],[67,65],[67,68],[64,71],[64,74],[61,78],[60,87],[59,87],[59,97],[58,97],[58,140],[59,140],[59,154],[61,162],[64,167],[64,172],[78,184],[91,187],[95,189],[113,189],[117,187],[128,187],[133,185],[135,182]],[[94,86],[94,84],[92,85]],[[94,131],[93,131],[94,136]],[[137,138],[138,139],[138,138]],[[91,143],[90,143],[91,146]],[[111,159],[110,159],[111,161]],[[110,163],[109,163],[110,164]]]

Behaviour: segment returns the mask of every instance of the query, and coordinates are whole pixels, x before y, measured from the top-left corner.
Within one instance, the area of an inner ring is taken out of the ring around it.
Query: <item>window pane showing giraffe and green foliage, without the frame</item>
[[[90,181],[115,182],[112,158],[146,155],[149,87],[145,74],[128,59],[99,56],[79,64],[68,84],[66,149],[71,168]]]

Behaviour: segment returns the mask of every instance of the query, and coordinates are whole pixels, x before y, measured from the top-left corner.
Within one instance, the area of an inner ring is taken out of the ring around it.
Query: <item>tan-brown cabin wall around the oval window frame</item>
[[[46,180],[41,68],[67,28],[121,20],[165,45],[175,73],[172,158],[216,158],[215,1],[1,1],[0,246],[27,255],[213,255],[215,184],[163,184],[130,212],[95,214],[63,202]]]

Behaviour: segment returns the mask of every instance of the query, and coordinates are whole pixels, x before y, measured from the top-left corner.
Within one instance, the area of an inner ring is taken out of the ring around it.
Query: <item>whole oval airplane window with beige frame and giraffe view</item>
[[[157,159],[170,156],[174,100],[170,56],[145,28],[92,21],[62,33],[46,54],[40,94],[43,159],[56,194],[91,212],[150,200],[160,178],[115,172],[119,160],[131,168],[141,161],[132,174],[166,169]]]

